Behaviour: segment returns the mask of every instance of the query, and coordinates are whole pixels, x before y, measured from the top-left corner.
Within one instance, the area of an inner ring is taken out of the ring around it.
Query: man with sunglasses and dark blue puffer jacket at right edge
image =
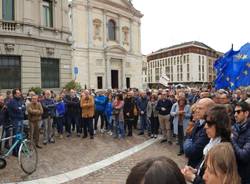
[[[250,119],[249,104],[238,102],[235,107],[236,123],[232,128],[232,145],[234,147],[238,171],[242,184],[250,184]]]

